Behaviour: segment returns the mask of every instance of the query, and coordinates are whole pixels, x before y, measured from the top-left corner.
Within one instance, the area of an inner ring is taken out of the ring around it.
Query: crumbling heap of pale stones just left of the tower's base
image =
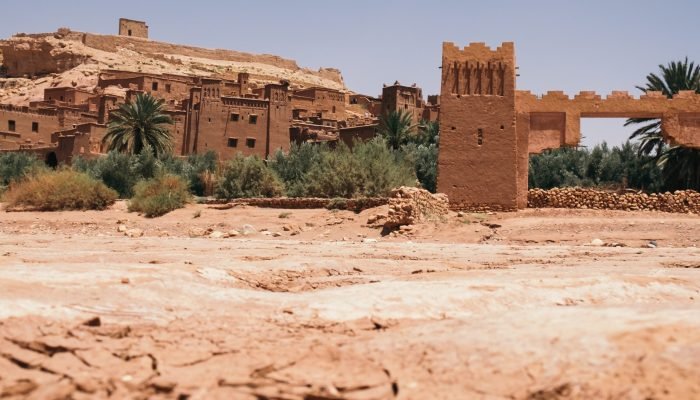
[[[402,186],[391,191],[389,210],[367,220],[367,225],[395,230],[424,221],[444,220],[449,212],[447,196],[425,189]]]

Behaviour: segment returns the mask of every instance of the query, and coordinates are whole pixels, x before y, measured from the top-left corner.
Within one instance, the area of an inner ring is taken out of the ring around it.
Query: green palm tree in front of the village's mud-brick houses
[[[173,120],[164,110],[163,100],[137,94],[133,101],[110,113],[102,143],[108,151],[139,154],[150,148],[155,156],[171,153],[173,139],[167,125],[172,125]]]

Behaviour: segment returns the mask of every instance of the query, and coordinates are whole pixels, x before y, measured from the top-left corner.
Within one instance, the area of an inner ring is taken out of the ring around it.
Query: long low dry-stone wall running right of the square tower
[[[700,213],[700,193],[693,190],[647,194],[642,192],[617,193],[585,188],[531,189],[528,191],[527,206],[531,208]]]

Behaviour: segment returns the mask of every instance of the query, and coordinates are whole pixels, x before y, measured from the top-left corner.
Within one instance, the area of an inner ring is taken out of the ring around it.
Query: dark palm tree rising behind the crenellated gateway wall
[[[646,86],[637,89],[660,91],[671,98],[681,90],[694,90],[700,93],[700,65],[684,61],[659,65],[661,76],[654,73],[647,75]],[[630,139],[639,139],[639,154],[653,155],[662,168],[664,184],[667,189],[700,189],[700,150],[680,146],[668,147],[661,130],[661,121],[655,118],[630,118],[625,126],[645,124],[635,130]]]

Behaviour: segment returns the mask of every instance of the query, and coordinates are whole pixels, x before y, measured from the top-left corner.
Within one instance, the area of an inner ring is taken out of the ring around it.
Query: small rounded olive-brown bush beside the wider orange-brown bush
[[[143,213],[148,218],[160,217],[182,208],[190,200],[187,183],[175,175],[163,175],[140,181],[129,200],[129,211]]]

